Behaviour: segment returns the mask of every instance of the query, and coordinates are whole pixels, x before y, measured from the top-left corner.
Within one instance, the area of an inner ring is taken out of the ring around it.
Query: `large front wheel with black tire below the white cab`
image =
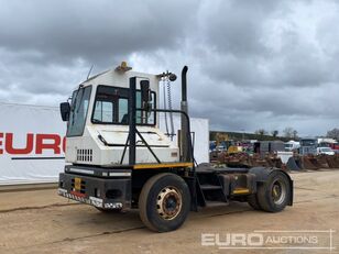
[[[175,206],[175,207],[173,207]],[[164,173],[150,178],[139,197],[142,222],[156,232],[178,229],[190,210],[190,192],[185,180]]]

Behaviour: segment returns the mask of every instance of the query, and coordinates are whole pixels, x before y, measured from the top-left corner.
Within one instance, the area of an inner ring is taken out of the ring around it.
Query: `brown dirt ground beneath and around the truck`
[[[247,203],[233,202],[192,212],[179,230],[161,234],[145,229],[136,210],[102,214],[58,197],[55,189],[0,192],[0,253],[339,253],[339,169],[295,173],[292,177],[295,202],[283,212],[254,211]],[[336,249],[225,250],[218,244],[201,245],[201,234],[222,238],[256,230],[311,231],[319,235],[318,247],[329,246],[329,234],[315,231],[336,230]]]

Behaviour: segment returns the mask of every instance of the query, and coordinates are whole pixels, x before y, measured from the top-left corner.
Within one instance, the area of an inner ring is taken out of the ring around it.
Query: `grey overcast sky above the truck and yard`
[[[0,101],[58,106],[128,60],[178,76],[211,130],[339,128],[339,2],[0,0]],[[175,101],[179,82],[173,84]],[[177,104],[177,103],[176,103]]]

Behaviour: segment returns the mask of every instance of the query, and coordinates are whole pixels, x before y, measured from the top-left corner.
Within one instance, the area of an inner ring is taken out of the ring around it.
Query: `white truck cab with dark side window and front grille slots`
[[[136,77],[136,108],[142,107],[141,80],[149,80],[152,108],[158,104],[160,76],[111,69],[89,78],[73,92],[67,126],[66,162],[110,167],[128,165],[123,155],[129,136],[129,81]],[[136,112],[138,130],[161,162],[179,162],[178,145],[157,128],[158,113]],[[135,163],[156,163],[136,137]]]

